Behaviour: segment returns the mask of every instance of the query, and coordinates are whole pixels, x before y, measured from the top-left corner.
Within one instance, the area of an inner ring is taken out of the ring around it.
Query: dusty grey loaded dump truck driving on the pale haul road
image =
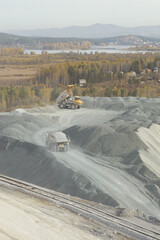
[[[46,137],[46,146],[53,152],[66,152],[69,150],[70,138],[61,131],[49,131]]]

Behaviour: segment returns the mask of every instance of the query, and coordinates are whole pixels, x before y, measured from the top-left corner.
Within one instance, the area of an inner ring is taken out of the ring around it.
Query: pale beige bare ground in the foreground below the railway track
[[[47,201],[2,186],[0,212],[2,240],[131,239]]]

